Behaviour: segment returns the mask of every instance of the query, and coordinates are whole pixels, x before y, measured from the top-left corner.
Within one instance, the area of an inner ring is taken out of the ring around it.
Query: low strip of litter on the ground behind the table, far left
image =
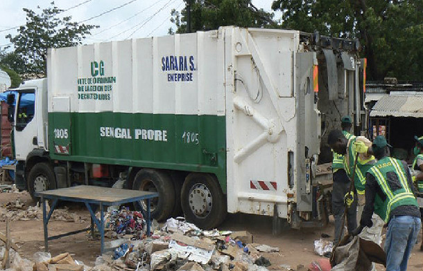
[[[48,206],[48,203],[46,204],[47,212],[49,212],[50,207]],[[42,220],[42,207],[40,207],[40,203],[37,203],[35,206],[27,207],[21,202],[21,200],[17,199],[1,205],[0,222],[6,221],[7,218],[10,218],[10,221]],[[55,209],[50,220],[77,223],[84,223],[87,221],[85,217],[69,212],[67,207],[64,207],[63,209]]]

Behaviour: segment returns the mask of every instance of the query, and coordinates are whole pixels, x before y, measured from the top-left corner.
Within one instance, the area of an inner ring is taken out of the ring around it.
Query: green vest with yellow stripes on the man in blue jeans
[[[400,160],[390,157],[382,158],[368,172],[374,176],[383,194],[386,195],[385,201],[374,202],[374,213],[379,215],[383,221],[389,221],[390,212],[396,207],[402,205],[419,207],[413,191],[408,185],[406,169]],[[392,180],[392,178],[388,180],[388,172],[393,172],[397,176],[397,180]],[[392,189],[392,185],[395,185],[395,190]]]

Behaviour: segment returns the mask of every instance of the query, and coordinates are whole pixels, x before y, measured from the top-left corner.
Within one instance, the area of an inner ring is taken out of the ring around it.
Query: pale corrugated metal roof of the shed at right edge
[[[423,118],[423,96],[386,96],[373,106],[370,117],[394,117]]]

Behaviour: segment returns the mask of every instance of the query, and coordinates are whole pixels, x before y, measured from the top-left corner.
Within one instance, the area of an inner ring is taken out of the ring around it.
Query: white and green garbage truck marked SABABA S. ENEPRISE
[[[34,196],[123,180],[159,193],[158,221],[183,213],[205,229],[228,212],[320,225],[330,212],[331,172],[319,169],[331,162],[327,133],[346,114],[362,125],[360,48],[234,26],[51,48],[46,78],[9,99],[16,185]],[[32,109],[19,105],[25,93]]]

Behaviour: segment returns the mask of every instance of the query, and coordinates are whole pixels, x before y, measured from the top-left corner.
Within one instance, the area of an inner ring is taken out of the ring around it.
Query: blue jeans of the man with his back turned
[[[392,216],[386,232],[386,271],[406,271],[422,221],[417,216]]]

